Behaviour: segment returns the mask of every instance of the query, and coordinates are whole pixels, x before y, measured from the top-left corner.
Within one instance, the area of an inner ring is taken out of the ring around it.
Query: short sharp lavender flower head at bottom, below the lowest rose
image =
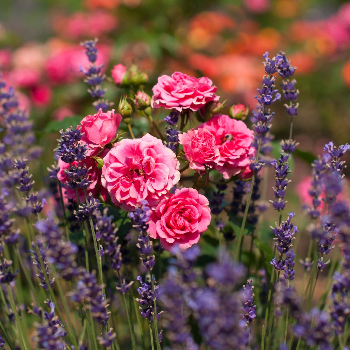
[[[153,317],[154,317],[153,301],[157,300],[158,298],[157,289],[159,288],[159,286],[154,286],[154,295],[153,295],[152,284],[149,278],[146,278],[145,282],[142,281],[141,276],[137,276],[136,279],[141,283],[141,287],[137,288],[140,298],[136,298],[135,301],[137,301],[141,305],[140,307],[141,315],[145,317],[149,322],[153,322]],[[153,283],[156,283],[154,278],[153,278]],[[159,321],[162,311],[158,312],[159,306],[157,305],[156,307],[157,307],[157,311],[156,311],[157,321]]]

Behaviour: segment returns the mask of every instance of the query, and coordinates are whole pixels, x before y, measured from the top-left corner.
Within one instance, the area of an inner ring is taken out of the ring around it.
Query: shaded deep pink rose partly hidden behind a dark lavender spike
[[[99,152],[99,149],[96,149],[92,155],[97,155],[98,152]],[[102,158],[107,153],[108,153],[108,149],[104,149],[103,152],[98,156]],[[88,173],[88,179],[91,181],[91,184],[89,188],[86,189],[86,193],[87,194],[91,193],[92,196],[96,199],[98,199],[99,195],[101,195],[103,199],[106,201],[108,198],[108,193],[101,184],[102,170],[98,169],[97,162],[93,158],[87,157],[84,161],[81,162],[81,164],[85,164],[87,168],[91,167]],[[76,161],[73,162],[73,165],[77,165],[77,162]],[[59,159],[58,167],[59,167],[59,172],[57,174],[57,179],[61,181],[63,184],[65,184],[68,181],[68,176],[64,173],[64,169],[68,169],[69,164]],[[76,191],[68,187],[65,188],[65,194],[69,199],[76,200],[77,198]],[[79,188],[78,195],[79,195],[80,202],[84,203],[85,202],[84,190]]]

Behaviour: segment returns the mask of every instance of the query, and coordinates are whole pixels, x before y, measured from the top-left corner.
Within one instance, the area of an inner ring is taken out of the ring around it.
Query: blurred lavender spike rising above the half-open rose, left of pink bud
[[[103,64],[96,64],[98,52],[96,44],[97,39],[87,40],[81,43],[81,45],[84,46],[86,50],[85,54],[87,59],[89,59],[89,62],[91,62],[91,65],[85,69],[83,67],[80,67],[80,71],[85,74],[86,78],[84,81],[90,87],[87,91],[90,93],[91,97],[96,100],[93,103],[93,106],[97,111],[99,111],[101,108],[103,112],[107,112],[111,106],[111,103],[109,103],[108,100],[104,99],[106,89],[102,89],[101,84],[103,83],[103,80],[106,76],[101,72]]]

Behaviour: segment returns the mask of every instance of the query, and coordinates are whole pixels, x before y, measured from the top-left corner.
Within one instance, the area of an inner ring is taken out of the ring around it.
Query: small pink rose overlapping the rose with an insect
[[[216,146],[214,135],[205,128],[191,129],[179,134],[179,143],[183,146],[190,168],[204,170],[218,164],[220,152]]]

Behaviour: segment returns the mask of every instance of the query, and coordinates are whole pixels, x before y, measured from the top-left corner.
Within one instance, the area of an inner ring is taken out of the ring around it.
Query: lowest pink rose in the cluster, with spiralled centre
[[[187,249],[198,242],[207,230],[211,215],[209,201],[193,188],[176,189],[168,199],[159,202],[149,222],[152,238],[159,238],[170,251],[179,246]]]

